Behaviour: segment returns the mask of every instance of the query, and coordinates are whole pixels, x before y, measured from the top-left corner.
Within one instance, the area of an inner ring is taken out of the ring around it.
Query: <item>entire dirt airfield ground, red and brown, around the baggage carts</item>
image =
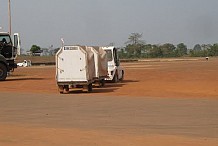
[[[218,58],[122,63],[123,82],[59,94],[55,66],[0,83],[0,145],[218,146]]]

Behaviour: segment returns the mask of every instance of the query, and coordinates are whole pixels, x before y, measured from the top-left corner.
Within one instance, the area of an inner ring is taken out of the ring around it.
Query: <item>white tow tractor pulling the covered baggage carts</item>
[[[117,49],[114,46],[103,47],[107,52],[108,59],[108,78],[106,80],[114,83],[124,79],[124,69],[120,66]]]

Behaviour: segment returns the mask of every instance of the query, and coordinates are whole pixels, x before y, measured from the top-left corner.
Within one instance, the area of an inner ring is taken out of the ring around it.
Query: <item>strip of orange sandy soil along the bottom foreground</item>
[[[217,146],[217,139],[169,135],[128,135],[78,129],[0,126],[4,146]]]

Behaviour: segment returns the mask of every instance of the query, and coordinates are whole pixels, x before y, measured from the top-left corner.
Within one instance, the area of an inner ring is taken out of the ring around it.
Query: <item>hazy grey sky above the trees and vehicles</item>
[[[125,46],[131,33],[150,44],[218,43],[218,0],[11,0],[12,32],[22,48]],[[0,0],[8,31],[8,0]]]

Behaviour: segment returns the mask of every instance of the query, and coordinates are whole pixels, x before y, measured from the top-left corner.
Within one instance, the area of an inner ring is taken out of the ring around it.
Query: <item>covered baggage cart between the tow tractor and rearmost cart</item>
[[[95,78],[106,78],[108,75],[107,53],[102,47],[88,47],[94,54]]]

